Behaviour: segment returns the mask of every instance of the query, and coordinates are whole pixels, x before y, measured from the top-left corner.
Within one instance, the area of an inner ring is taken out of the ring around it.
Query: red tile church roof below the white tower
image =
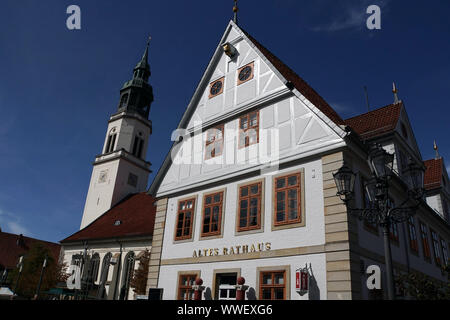
[[[61,243],[117,237],[150,236],[153,234],[155,223],[156,207],[154,202],[155,199],[145,192],[133,194],[119,202],[84,229],[61,240]],[[120,221],[120,224],[115,225],[116,221]]]

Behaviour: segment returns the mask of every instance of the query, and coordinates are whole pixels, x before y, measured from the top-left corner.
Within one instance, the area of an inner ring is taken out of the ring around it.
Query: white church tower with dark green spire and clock
[[[81,227],[83,229],[130,193],[147,188],[150,162],[145,161],[152,123],[148,47],[120,90],[118,110],[108,121],[103,151],[93,163]]]

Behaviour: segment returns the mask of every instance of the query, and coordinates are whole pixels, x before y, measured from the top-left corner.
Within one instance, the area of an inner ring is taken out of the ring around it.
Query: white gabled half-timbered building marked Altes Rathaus
[[[401,161],[422,162],[402,102],[344,120],[231,21],[178,129],[183,138],[149,190],[157,200],[149,287],[190,298],[200,277],[204,299],[232,298],[242,276],[247,299],[370,298],[363,267],[383,268],[382,237],[347,213],[332,174],[345,161],[360,185],[365,143],[376,141],[396,155],[392,197],[402,201]],[[364,204],[361,190],[356,198]],[[423,203],[411,224],[392,230],[396,271],[444,281],[436,255],[442,263],[448,220]],[[442,240],[436,250],[431,230]],[[310,290],[299,294],[296,270],[305,267]]]

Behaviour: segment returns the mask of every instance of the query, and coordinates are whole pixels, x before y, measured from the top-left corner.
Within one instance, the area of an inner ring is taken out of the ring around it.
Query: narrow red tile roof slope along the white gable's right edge
[[[315,105],[320,111],[322,111],[331,121],[335,124],[344,124],[344,120],[339,114],[313,89],[306,83],[299,75],[297,75],[291,68],[285,65],[280,59],[278,59],[272,52],[266,49],[255,38],[253,38],[248,32],[241,28],[242,32],[250,39],[251,42],[261,51],[261,53],[273,64],[275,68],[290,81],[294,87],[304,95],[313,105]]]

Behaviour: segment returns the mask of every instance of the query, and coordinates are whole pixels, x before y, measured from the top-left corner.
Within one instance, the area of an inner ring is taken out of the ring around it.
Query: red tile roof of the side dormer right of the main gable
[[[345,120],[363,139],[370,139],[391,132],[397,126],[403,104],[390,104],[386,107],[361,114]]]

